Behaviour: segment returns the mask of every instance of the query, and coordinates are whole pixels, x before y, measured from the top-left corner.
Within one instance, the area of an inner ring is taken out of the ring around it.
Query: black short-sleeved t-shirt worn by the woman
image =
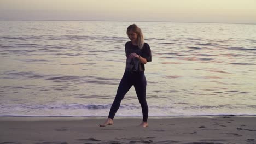
[[[139,49],[137,45],[133,45],[131,41],[125,43],[125,56],[126,56],[126,71],[139,72],[145,71],[145,66],[142,64],[138,58],[130,58],[131,53],[136,53],[143,58],[147,59],[147,62],[151,62],[151,50],[147,43],[144,43],[143,49]]]

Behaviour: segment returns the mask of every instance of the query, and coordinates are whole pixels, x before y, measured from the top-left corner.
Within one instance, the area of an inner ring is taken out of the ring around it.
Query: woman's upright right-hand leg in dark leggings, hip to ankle
[[[144,72],[141,72],[136,75],[134,88],[135,88],[139,103],[141,104],[143,122],[148,121],[148,104],[146,101],[146,87],[147,87],[147,80],[144,75]]]

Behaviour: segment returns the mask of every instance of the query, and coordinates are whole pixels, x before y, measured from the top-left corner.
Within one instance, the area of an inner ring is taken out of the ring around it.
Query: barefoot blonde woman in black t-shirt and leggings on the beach
[[[108,118],[103,124],[100,124],[100,127],[113,124],[113,119],[119,109],[121,100],[132,86],[135,87],[139,103],[142,107],[143,121],[139,126],[148,127],[147,81],[144,75],[144,64],[151,62],[151,50],[149,45],[144,43],[142,31],[137,25],[130,25],[126,33],[131,41],[125,44],[125,54],[127,57],[125,72],[120,81],[117,95],[109,111]]]

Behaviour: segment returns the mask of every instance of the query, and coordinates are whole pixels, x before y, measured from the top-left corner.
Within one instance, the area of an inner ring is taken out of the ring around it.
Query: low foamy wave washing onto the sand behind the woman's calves
[[[176,106],[168,104],[150,105],[149,116],[256,116],[253,111],[256,105],[234,107],[227,105],[194,105],[176,103]],[[1,104],[0,116],[23,116],[23,117],[98,117],[107,116],[111,104]],[[229,109],[224,110],[226,107]],[[236,109],[250,108],[252,111],[239,112]],[[163,111],[164,110],[164,111]],[[117,116],[142,116],[139,104],[120,105]]]

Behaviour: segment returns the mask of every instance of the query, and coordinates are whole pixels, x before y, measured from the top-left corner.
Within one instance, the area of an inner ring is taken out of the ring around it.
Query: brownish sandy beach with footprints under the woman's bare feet
[[[256,117],[0,117],[0,143],[256,143]]]

